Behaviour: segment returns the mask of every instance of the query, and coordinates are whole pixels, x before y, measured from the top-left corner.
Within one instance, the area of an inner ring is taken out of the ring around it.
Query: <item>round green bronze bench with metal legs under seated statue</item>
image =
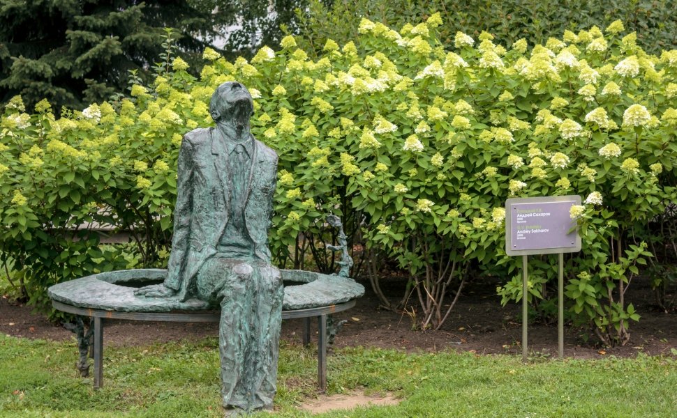
[[[364,286],[353,279],[302,270],[280,270],[284,282],[282,318],[304,318],[304,343],[310,341],[310,321],[318,318],[318,382],[327,388],[327,315],[355,306]],[[167,277],[163,269],[119,270],[92,274],[51,286],[47,291],[54,309],[93,318],[94,387],[103,386],[103,324],[105,319],[158,320],[170,322],[218,322],[219,311],[209,311],[197,299],[179,302],[172,298],[149,298],[134,291],[159,284]]]

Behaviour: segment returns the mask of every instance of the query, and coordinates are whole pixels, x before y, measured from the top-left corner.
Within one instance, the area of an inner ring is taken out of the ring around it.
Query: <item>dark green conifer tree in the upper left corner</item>
[[[54,109],[82,108],[144,78],[158,60],[165,27],[188,57],[209,45],[211,10],[186,0],[0,0],[0,102],[22,95]]]

